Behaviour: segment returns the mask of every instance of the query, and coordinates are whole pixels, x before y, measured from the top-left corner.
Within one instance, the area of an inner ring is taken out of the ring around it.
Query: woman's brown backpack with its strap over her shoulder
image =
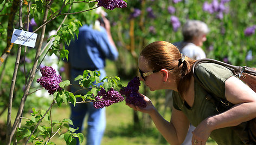
[[[195,74],[195,68],[200,63],[215,63],[228,68],[233,72],[234,76],[238,77],[241,81],[246,83],[254,92],[256,92],[256,68],[235,66],[209,58],[197,60],[192,68],[192,73],[195,81],[199,82],[201,87],[205,91],[207,91],[208,95],[206,96],[206,100],[212,102],[219,113],[230,109],[234,106],[234,104],[228,102],[223,98],[219,98],[210,94],[209,91],[204,87],[202,82],[200,82],[199,78]],[[256,144],[256,118],[239,124],[238,126],[234,127],[234,130],[245,144]]]

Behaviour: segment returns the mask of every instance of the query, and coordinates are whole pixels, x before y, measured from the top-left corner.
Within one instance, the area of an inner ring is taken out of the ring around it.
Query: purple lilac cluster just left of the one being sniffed
[[[100,96],[102,96],[100,98]],[[96,109],[104,108],[107,106],[111,106],[114,103],[118,103],[124,101],[124,97],[118,93],[118,91],[111,88],[106,91],[104,88],[101,88],[98,92],[98,95],[95,98],[95,102],[93,102],[93,106]]]

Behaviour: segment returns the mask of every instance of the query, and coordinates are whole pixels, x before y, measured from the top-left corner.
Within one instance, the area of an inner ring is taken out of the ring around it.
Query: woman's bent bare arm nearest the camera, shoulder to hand
[[[225,82],[225,89],[227,100],[235,106],[202,121],[193,132],[193,140],[205,144],[213,130],[237,126],[256,117],[256,93],[251,88],[232,76]]]

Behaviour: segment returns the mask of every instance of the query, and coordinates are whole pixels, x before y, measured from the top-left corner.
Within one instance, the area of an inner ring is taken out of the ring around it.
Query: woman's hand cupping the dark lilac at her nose
[[[131,107],[135,111],[141,111],[143,113],[150,114],[153,110],[155,110],[155,107],[153,106],[151,100],[148,97],[146,97],[145,95],[142,95],[140,93],[139,93],[139,95],[142,96],[144,98],[145,102],[146,102],[146,107],[145,108],[134,106],[133,104],[128,104],[128,103],[126,103],[126,105]]]

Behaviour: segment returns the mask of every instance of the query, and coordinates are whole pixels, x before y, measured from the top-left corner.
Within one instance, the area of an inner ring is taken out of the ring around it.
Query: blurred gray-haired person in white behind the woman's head
[[[182,27],[183,41],[174,43],[180,51],[195,60],[206,58],[201,48],[209,33],[207,24],[199,20],[188,20]]]

